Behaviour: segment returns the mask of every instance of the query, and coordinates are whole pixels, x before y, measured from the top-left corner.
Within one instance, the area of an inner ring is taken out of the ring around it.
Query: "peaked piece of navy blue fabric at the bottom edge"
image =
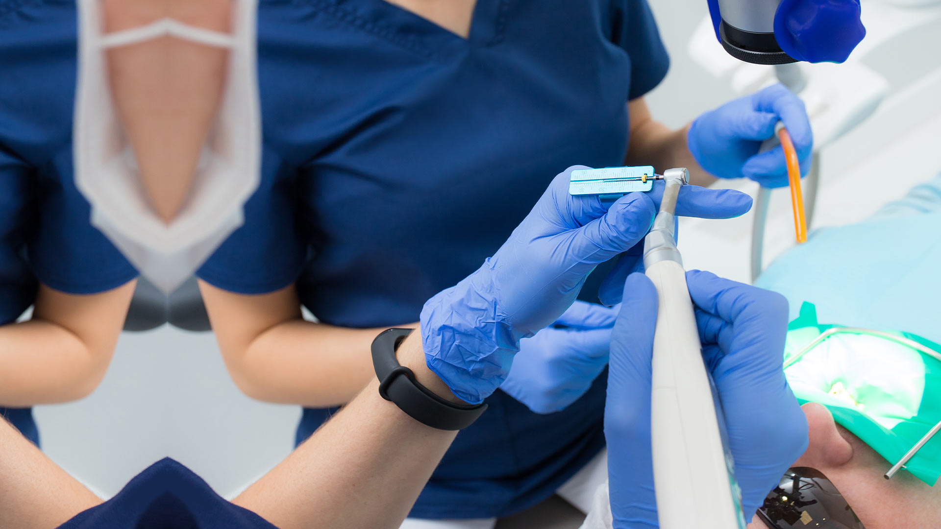
[[[170,458],[153,463],[124,489],[58,529],[277,529],[257,514],[222,499]]]

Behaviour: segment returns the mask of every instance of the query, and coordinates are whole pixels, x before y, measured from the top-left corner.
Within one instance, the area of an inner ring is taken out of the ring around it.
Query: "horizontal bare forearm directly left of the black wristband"
[[[232,376],[259,400],[309,408],[340,406],[375,377],[370,346],[384,329],[292,320],[253,341],[238,375]]]

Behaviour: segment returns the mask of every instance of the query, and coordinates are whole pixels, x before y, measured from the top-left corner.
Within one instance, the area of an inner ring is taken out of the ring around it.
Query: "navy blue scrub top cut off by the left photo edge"
[[[0,0],[0,325],[33,304],[37,281],[95,294],[137,275],[72,176],[76,20],[74,0]],[[39,444],[31,409],[0,413]]]

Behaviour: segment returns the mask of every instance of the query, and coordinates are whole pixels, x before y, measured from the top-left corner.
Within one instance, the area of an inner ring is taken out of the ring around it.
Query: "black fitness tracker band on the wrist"
[[[470,426],[486,404],[455,404],[432,393],[415,379],[411,369],[395,358],[395,349],[413,329],[387,329],[373,341],[373,367],[379,377],[379,394],[423,425],[439,430]]]

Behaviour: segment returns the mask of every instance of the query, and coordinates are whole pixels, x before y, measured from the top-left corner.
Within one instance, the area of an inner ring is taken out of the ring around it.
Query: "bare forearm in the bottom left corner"
[[[102,501],[0,419],[0,527],[52,529]]]

